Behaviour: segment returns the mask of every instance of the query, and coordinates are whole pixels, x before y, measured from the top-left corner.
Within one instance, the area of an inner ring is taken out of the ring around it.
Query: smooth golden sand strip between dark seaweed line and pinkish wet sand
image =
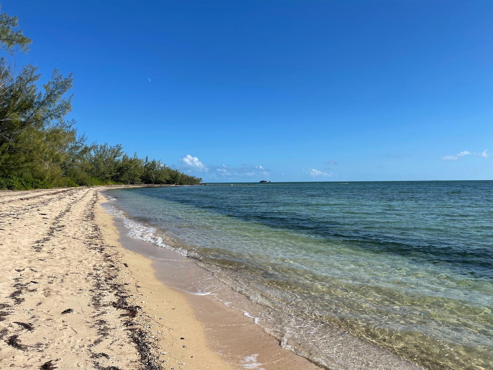
[[[154,339],[161,349],[161,354],[174,359],[165,361],[175,369],[188,369],[190,366],[193,369],[234,369],[209,349],[203,324],[195,319],[185,297],[156,279],[150,259],[122,246],[119,241],[121,235],[114,225],[114,218],[102,207],[102,203],[107,200],[101,190],[98,190],[96,220],[104,227],[106,243],[121,249],[121,263],[129,270],[137,284],[134,301],[150,318],[148,330],[152,336],[156,336]],[[159,334],[162,334],[161,337]]]

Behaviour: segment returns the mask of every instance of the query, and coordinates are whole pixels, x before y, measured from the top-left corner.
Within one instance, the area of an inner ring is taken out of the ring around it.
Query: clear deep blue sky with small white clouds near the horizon
[[[207,182],[493,179],[490,0],[1,5],[91,142]]]

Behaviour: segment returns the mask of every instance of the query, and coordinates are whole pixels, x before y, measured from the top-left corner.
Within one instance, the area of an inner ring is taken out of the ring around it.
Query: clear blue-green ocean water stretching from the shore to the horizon
[[[107,194],[130,236],[196,259],[321,365],[339,328],[425,369],[493,369],[493,181]]]

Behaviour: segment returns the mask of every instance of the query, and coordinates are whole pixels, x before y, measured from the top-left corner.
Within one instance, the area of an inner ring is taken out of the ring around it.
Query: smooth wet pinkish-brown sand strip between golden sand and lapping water
[[[102,198],[106,197],[102,191],[100,194]],[[105,202],[106,199],[101,199],[100,204]],[[211,279],[211,276],[206,276],[210,273],[198,266],[193,259],[180,256],[154,244],[127,237],[121,220],[107,214],[103,207],[100,207],[100,210],[99,217],[102,222],[106,223],[107,230],[110,230],[108,233],[111,235],[111,241],[113,243],[117,241],[126,249],[125,257],[131,261],[128,263],[129,267],[132,269],[133,259],[140,261],[139,263],[143,263],[142,259],[145,259],[148,267],[146,272],[150,273],[145,275],[145,278],[152,276],[151,279],[155,284],[165,287],[166,295],[172,291],[175,296],[180,297],[184,303],[181,307],[175,307],[176,310],[185,309],[189,315],[197,318],[202,330],[200,335],[205,335],[206,338],[206,346],[214,353],[220,353],[220,357],[231,366],[231,369],[322,369],[306,358],[282,348],[276,338],[255,325],[256,318],[251,317],[247,311],[225,304],[230,302],[213,298],[209,295],[210,292],[205,294],[193,292],[193,287],[188,286],[190,281]],[[187,276],[183,276],[184,271]],[[230,291],[230,288],[225,285],[224,288]],[[228,293],[234,294],[232,291]],[[245,296],[239,293],[236,295],[235,301],[241,297],[244,303],[248,302]],[[151,308],[156,313],[163,312],[161,307],[156,305]]]

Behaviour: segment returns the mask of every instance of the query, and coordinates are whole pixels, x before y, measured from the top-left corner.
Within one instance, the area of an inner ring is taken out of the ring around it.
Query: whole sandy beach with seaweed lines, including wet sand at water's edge
[[[119,243],[100,190],[0,193],[1,369],[318,369],[164,285]]]

